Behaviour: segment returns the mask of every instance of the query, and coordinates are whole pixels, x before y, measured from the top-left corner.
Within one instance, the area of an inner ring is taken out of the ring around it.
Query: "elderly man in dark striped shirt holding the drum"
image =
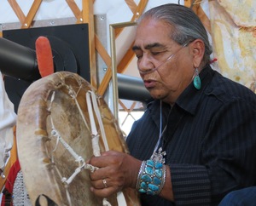
[[[207,31],[189,8],[166,4],[138,20],[133,50],[154,101],[127,137],[131,155],[91,157],[91,191],[124,187],[142,205],[218,205],[256,183],[256,95],[212,70]]]

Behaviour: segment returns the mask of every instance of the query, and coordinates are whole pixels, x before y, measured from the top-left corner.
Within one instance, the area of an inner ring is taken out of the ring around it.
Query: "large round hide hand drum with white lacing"
[[[17,147],[32,204],[40,197],[43,199],[41,202],[47,202],[49,198],[57,205],[102,205],[102,199],[90,192],[89,170],[81,170],[68,185],[62,181],[78,169],[77,157],[86,161],[93,155],[86,104],[88,91],[95,93],[90,83],[79,75],[55,72],[32,83],[20,100]],[[109,149],[128,152],[118,123],[107,104],[99,95],[96,95],[96,100]],[[96,121],[97,127],[98,124]],[[102,140],[99,145],[103,152]],[[138,205],[137,192],[129,189],[126,193],[125,199],[132,202],[131,205]],[[108,201],[117,205],[115,195]]]

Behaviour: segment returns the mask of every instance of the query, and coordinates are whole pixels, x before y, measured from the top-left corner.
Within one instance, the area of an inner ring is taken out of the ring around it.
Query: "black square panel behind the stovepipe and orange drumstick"
[[[35,42],[40,36],[49,38],[54,56],[55,72],[75,72],[90,83],[89,32],[87,24],[3,31],[3,38],[34,51]],[[0,61],[0,68],[4,74],[4,70],[7,71],[8,68],[2,68],[1,65]],[[38,70],[37,65],[34,69]],[[19,64],[17,64],[16,68],[11,68],[11,70],[17,71],[17,73],[22,72],[20,71]],[[18,78],[15,72],[4,77],[5,89],[9,99],[15,105],[15,112],[17,112],[22,94],[37,78],[38,76],[32,77],[31,80],[23,80]]]

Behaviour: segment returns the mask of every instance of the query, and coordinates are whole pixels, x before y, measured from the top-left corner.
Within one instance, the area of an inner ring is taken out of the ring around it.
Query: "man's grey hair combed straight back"
[[[137,23],[139,24],[145,18],[163,20],[172,26],[171,38],[178,44],[185,45],[195,39],[201,39],[205,44],[203,61],[207,63],[210,60],[212,47],[208,40],[207,30],[192,9],[175,3],[167,3],[149,9]]]

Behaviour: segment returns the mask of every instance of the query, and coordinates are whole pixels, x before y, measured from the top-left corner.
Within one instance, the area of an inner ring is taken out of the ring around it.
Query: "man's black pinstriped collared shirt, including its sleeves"
[[[232,190],[256,185],[256,94],[210,66],[174,106],[162,103],[161,146],[175,203],[142,195],[143,205],[218,205]],[[147,160],[160,133],[160,100],[148,105],[127,137],[131,155]]]

